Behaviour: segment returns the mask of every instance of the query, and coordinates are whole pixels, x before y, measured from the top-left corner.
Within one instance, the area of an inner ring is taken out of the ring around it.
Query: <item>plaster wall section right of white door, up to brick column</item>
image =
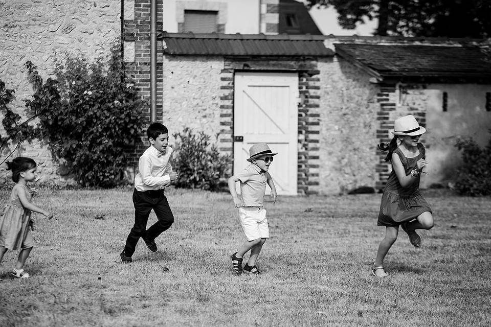
[[[319,59],[321,194],[375,186],[378,86],[340,57]]]

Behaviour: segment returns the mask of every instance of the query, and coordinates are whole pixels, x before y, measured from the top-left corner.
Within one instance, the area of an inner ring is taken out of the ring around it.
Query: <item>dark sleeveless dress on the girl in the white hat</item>
[[[425,158],[425,147],[421,143],[418,143],[418,150],[419,155],[414,158],[407,158],[399,148],[394,150],[394,153],[399,156],[403,163],[406,175],[409,175],[411,170],[417,167],[416,162],[419,159]],[[429,211],[431,213],[430,205],[419,193],[420,176],[418,175],[417,180],[403,188],[394,170],[392,170],[382,194],[377,220],[378,226],[398,226],[417,218],[423,212]]]

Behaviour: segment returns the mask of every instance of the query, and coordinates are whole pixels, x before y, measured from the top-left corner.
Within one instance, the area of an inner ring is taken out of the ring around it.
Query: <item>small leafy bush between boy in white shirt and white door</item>
[[[224,190],[225,174],[231,160],[230,155],[219,153],[216,144],[210,143],[210,136],[203,131],[193,133],[185,127],[174,133],[176,139],[172,166],[179,173],[174,183],[178,188]]]

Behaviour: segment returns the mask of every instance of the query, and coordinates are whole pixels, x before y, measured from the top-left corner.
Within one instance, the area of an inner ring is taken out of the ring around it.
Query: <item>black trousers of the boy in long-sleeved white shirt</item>
[[[174,222],[174,216],[164,190],[140,192],[135,189],[133,191],[133,205],[135,205],[135,225],[131,228],[126,239],[124,252],[127,256],[133,255],[141,237],[153,241]],[[158,220],[146,229],[148,216],[152,209]]]

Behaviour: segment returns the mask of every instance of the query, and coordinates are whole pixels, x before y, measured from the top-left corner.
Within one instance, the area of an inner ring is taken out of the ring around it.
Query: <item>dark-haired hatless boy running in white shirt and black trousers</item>
[[[126,245],[121,252],[121,262],[131,262],[138,240],[143,239],[151,252],[157,252],[155,238],[167,230],[174,222],[174,216],[164,194],[164,187],[177,180],[169,162],[172,148],[169,144],[169,131],[160,123],[153,123],[147,129],[150,147],[143,152],[138,161],[139,173],[135,176],[133,204],[135,205],[135,225],[131,228]],[[147,221],[153,209],[158,221],[148,229]]]

